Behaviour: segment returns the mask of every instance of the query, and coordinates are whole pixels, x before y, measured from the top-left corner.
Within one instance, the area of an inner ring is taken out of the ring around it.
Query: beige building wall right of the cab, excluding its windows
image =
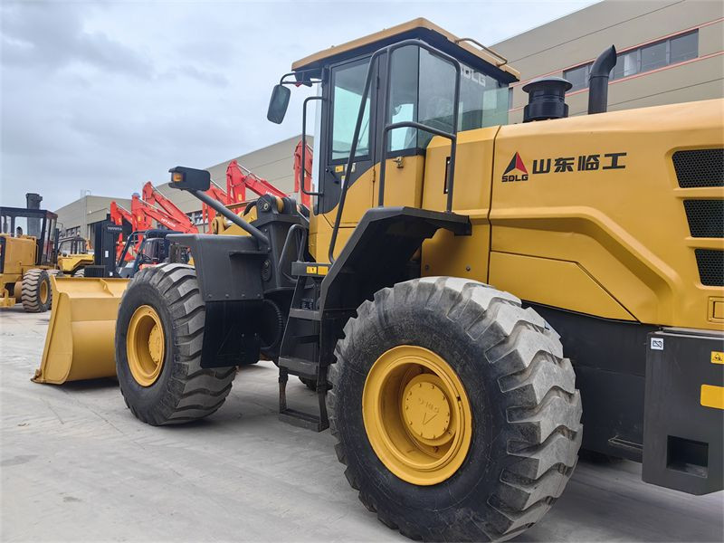
[[[522,86],[544,75],[593,62],[614,44],[626,52],[684,32],[699,36],[696,58],[609,82],[609,110],[625,110],[724,95],[724,3],[719,0],[605,1],[496,43],[521,73],[512,86],[510,122],[520,122],[528,95]],[[570,115],[586,113],[588,90],[567,94]]]

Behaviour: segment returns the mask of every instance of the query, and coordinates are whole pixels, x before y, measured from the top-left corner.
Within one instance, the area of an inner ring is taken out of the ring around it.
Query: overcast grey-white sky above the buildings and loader
[[[592,3],[4,0],[0,203],[129,197],[299,134],[307,90],[274,125],[271,87],[330,45],[419,16],[496,43]]]

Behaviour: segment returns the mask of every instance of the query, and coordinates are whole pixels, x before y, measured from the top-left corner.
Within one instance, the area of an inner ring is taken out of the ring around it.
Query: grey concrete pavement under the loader
[[[224,406],[154,428],[115,381],[30,381],[50,313],[0,310],[3,541],[406,541],[357,500],[329,432],[277,420],[275,367],[236,377]],[[296,381],[290,402],[313,394]],[[581,461],[548,516],[516,541],[722,541],[724,494],[644,484],[633,462]]]

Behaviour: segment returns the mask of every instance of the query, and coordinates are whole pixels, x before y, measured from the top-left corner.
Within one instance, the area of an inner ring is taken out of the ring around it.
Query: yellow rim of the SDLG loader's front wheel
[[[166,337],[158,313],[142,305],[133,312],[126,336],[130,373],[140,386],[156,383],[164,367]]]

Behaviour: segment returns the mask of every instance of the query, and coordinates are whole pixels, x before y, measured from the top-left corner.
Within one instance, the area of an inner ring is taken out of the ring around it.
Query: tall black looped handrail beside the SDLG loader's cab
[[[383,148],[382,148],[382,160],[381,160],[381,166],[380,166],[380,196],[379,201],[380,205],[384,202],[384,171],[385,171],[385,159],[387,156],[387,148],[386,148],[386,134],[391,129],[390,127],[393,127],[395,125],[396,128],[403,128],[403,125],[405,126],[413,126],[417,125],[413,128],[418,129],[424,129],[426,131],[429,131],[433,134],[437,134],[438,136],[443,136],[444,138],[450,138],[451,139],[451,151],[450,151],[450,181],[448,184],[448,196],[447,196],[447,211],[452,210],[452,176],[454,174],[454,166],[455,166],[455,148],[457,143],[457,126],[458,126],[458,109],[460,105],[460,73],[461,73],[461,64],[460,61],[458,61],[456,58],[452,57],[451,55],[440,51],[439,49],[434,48],[432,45],[429,45],[428,43],[424,43],[422,40],[417,39],[409,39],[409,40],[403,40],[402,42],[393,43],[391,45],[388,45],[386,47],[383,47],[381,49],[378,49],[376,52],[372,53],[372,56],[369,57],[369,64],[367,65],[367,76],[365,77],[365,88],[362,91],[362,99],[359,102],[359,111],[357,112],[357,122],[355,123],[355,133],[352,137],[352,148],[349,149],[349,157],[347,160],[347,167],[346,173],[344,176],[344,179],[342,181],[342,191],[339,195],[339,203],[337,206],[337,216],[334,220],[334,226],[332,227],[332,235],[331,239],[329,240],[329,262],[332,263],[335,261],[334,259],[334,247],[337,243],[337,235],[339,232],[339,224],[341,223],[342,219],[342,210],[345,205],[345,200],[347,199],[347,191],[349,186],[349,180],[350,176],[352,174],[352,165],[354,164],[355,155],[357,154],[357,139],[359,138],[359,131],[361,129],[362,125],[362,119],[365,114],[365,109],[367,107],[367,98],[369,96],[369,87],[370,87],[370,81],[372,80],[372,71],[375,66],[375,61],[379,56],[381,56],[383,53],[387,55],[387,77],[385,82],[385,92],[384,92],[384,103],[385,103],[385,121],[389,115],[389,94],[390,94],[390,74],[391,74],[391,66],[392,66],[392,53],[395,52],[395,50],[400,49],[402,47],[407,47],[408,45],[414,45],[416,47],[420,47],[421,49],[425,49],[428,52],[431,52],[433,55],[438,56],[442,58],[445,61],[448,61],[452,63],[452,66],[455,68],[455,92],[454,92],[454,103],[452,106],[452,133],[443,132],[442,130],[433,129],[433,127],[427,127],[421,123],[393,123],[393,124],[387,124],[385,128],[383,129]],[[371,113],[371,112],[370,112]]]

